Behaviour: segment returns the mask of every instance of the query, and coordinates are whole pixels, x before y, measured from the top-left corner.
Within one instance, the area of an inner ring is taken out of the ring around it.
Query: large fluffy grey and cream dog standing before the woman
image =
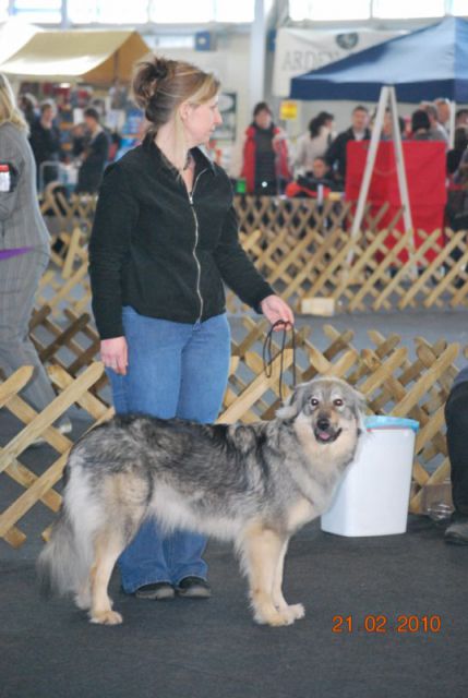
[[[302,618],[283,597],[290,537],[323,514],[362,433],[363,397],[339,378],[295,388],[268,422],[199,424],[113,417],[79,440],[63,504],[38,559],[43,591],[73,593],[92,623],[116,625],[108,583],[142,522],[235,542],[254,619]]]

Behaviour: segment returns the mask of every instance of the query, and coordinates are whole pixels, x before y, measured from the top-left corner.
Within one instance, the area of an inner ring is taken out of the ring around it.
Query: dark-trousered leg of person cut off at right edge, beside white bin
[[[445,421],[455,507],[445,541],[468,545],[468,366],[461,369],[454,381],[445,405]]]

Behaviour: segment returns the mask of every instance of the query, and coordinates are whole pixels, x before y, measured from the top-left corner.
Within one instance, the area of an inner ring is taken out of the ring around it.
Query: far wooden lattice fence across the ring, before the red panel
[[[412,233],[397,230],[401,209],[380,230],[388,204],[372,214],[368,205],[355,239],[349,233],[351,202],[325,201],[321,206],[303,198],[238,196],[235,205],[244,249],[296,311],[310,298],[333,300],[341,312],[468,305],[466,231],[445,229],[441,248],[441,230],[418,230],[415,250]],[[49,192],[41,206],[49,213],[55,244],[38,305],[47,303],[56,316],[64,308],[81,314],[89,309],[87,240],[96,198],[68,201],[60,192]],[[403,251],[411,251],[407,261],[401,261]],[[228,306],[231,312],[241,308],[232,293]]]

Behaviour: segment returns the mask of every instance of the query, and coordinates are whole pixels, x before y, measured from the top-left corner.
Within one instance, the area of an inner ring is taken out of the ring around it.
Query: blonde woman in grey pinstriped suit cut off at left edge
[[[34,366],[22,396],[40,411],[56,395],[29,339],[28,324],[50,252],[27,135],[11,85],[0,74],[0,366],[8,375],[20,366]],[[60,429],[69,433],[69,420]]]

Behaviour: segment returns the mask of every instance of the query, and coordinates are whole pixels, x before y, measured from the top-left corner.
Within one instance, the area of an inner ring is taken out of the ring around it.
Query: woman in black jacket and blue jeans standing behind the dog
[[[133,91],[149,129],[104,177],[89,270],[120,413],[216,419],[230,357],[223,281],[269,322],[293,322],[238,242],[227,174],[197,147],[221,123],[218,89],[189,63],[154,57],[140,64]],[[201,535],[163,537],[145,522],[119,561],[123,590],[207,598],[204,546]]]

